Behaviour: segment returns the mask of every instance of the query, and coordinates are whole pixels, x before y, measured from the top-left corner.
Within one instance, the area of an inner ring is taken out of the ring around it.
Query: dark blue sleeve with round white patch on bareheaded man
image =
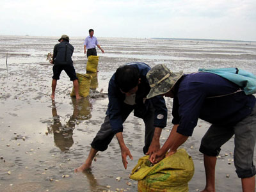
[[[167,108],[165,100],[161,95],[153,97],[152,104],[154,106],[154,127],[164,128],[167,121]]]

